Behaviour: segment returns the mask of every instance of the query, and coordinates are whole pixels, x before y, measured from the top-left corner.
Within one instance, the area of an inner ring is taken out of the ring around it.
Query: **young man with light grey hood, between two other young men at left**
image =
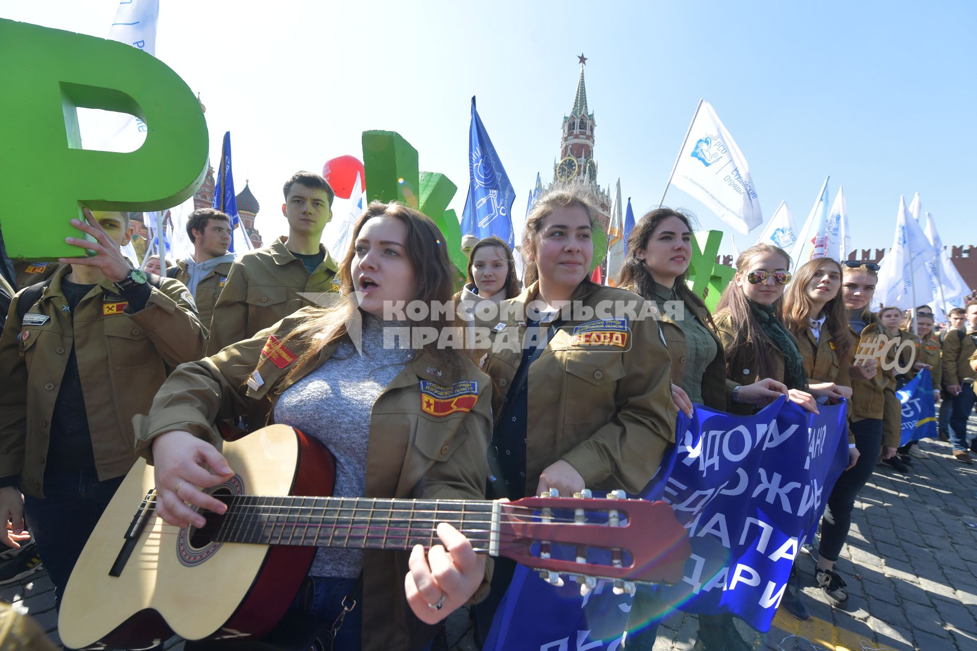
[[[228,253],[231,218],[213,208],[194,210],[187,220],[187,234],[193,242],[193,255],[167,268],[166,275],[187,285],[199,310],[197,318],[209,328],[217,297],[227,284],[234,264],[234,254]]]

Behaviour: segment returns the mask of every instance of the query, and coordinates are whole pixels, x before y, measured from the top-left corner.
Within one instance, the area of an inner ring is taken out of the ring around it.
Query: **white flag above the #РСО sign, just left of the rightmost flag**
[[[876,302],[901,309],[932,302],[933,289],[926,262],[934,254],[933,245],[926,239],[919,224],[910,217],[906,210],[906,199],[900,196],[896,237],[892,249],[879,263]]]

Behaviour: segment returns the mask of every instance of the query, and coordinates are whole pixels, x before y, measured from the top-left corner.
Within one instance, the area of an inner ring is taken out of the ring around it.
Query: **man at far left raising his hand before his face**
[[[206,342],[187,288],[122,256],[128,217],[96,216],[71,221],[95,242],[66,239],[95,255],[19,292],[0,336],[0,519],[19,534],[26,516],[58,600],[136,460],[133,416]],[[0,541],[16,547],[6,527]]]

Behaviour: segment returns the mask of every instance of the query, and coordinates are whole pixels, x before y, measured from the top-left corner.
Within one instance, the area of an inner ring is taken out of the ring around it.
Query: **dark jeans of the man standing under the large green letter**
[[[71,570],[122,479],[99,481],[95,468],[48,471],[44,473],[45,497],[23,496],[27,530],[55,585],[56,607],[61,608]]]

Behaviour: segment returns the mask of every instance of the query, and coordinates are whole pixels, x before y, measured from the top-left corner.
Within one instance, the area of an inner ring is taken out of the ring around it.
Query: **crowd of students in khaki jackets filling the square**
[[[899,383],[929,368],[956,459],[969,463],[977,446],[965,435],[977,303],[951,315],[962,314],[965,330],[956,322],[940,336],[920,307],[913,334],[912,315],[871,310],[876,264],[818,259],[791,274],[786,252],[758,244],[737,259],[713,314],[686,283],[688,214],[645,215],[618,287],[598,285],[597,212],[580,190],[556,188],[528,216],[522,281],[506,243],[488,238],[455,293],[444,237],[416,210],[370,203],[337,263],[319,244],[328,183],[298,173],[283,193],[288,236],[233,264],[227,216],[202,210],[188,224],[194,254],[171,277],[121,256],[126,216],[87,211],[88,224],[72,224],[98,244],[68,241],[96,255],[20,265],[0,337],[10,383],[0,393],[0,540],[36,549],[59,600],[137,455],[153,464],[166,522],[199,527],[201,510],[226,509],[206,489],[234,472],[220,452],[232,426],[280,423],[319,440],[337,460],[337,496],[514,500],[554,489],[638,493],[675,442],[678,410],[695,404],[752,414],[786,395],[817,412],[845,399],[849,464],[813,550],[817,584],[841,608],[848,593],[834,563],[859,491],[879,459],[903,470],[919,454],[899,447]],[[458,308],[390,309],[411,302]],[[391,346],[388,335],[404,327],[438,336]],[[444,346],[441,335],[458,330],[464,346]],[[904,373],[856,361],[880,334],[913,339]],[[465,399],[432,407],[445,395]],[[515,565],[476,554],[446,523],[438,536],[441,545],[410,553],[319,549],[290,609],[324,631],[340,622],[334,648],[420,649],[438,648],[446,616],[468,604],[481,646]],[[782,605],[806,619],[798,581]],[[345,597],[361,606],[344,618]],[[631,620],[668,607],[639,590]],[[651,649],[655,638],[635,624],[625,645]],[[747,648],[732,617],[700,617],[696,649]]]

